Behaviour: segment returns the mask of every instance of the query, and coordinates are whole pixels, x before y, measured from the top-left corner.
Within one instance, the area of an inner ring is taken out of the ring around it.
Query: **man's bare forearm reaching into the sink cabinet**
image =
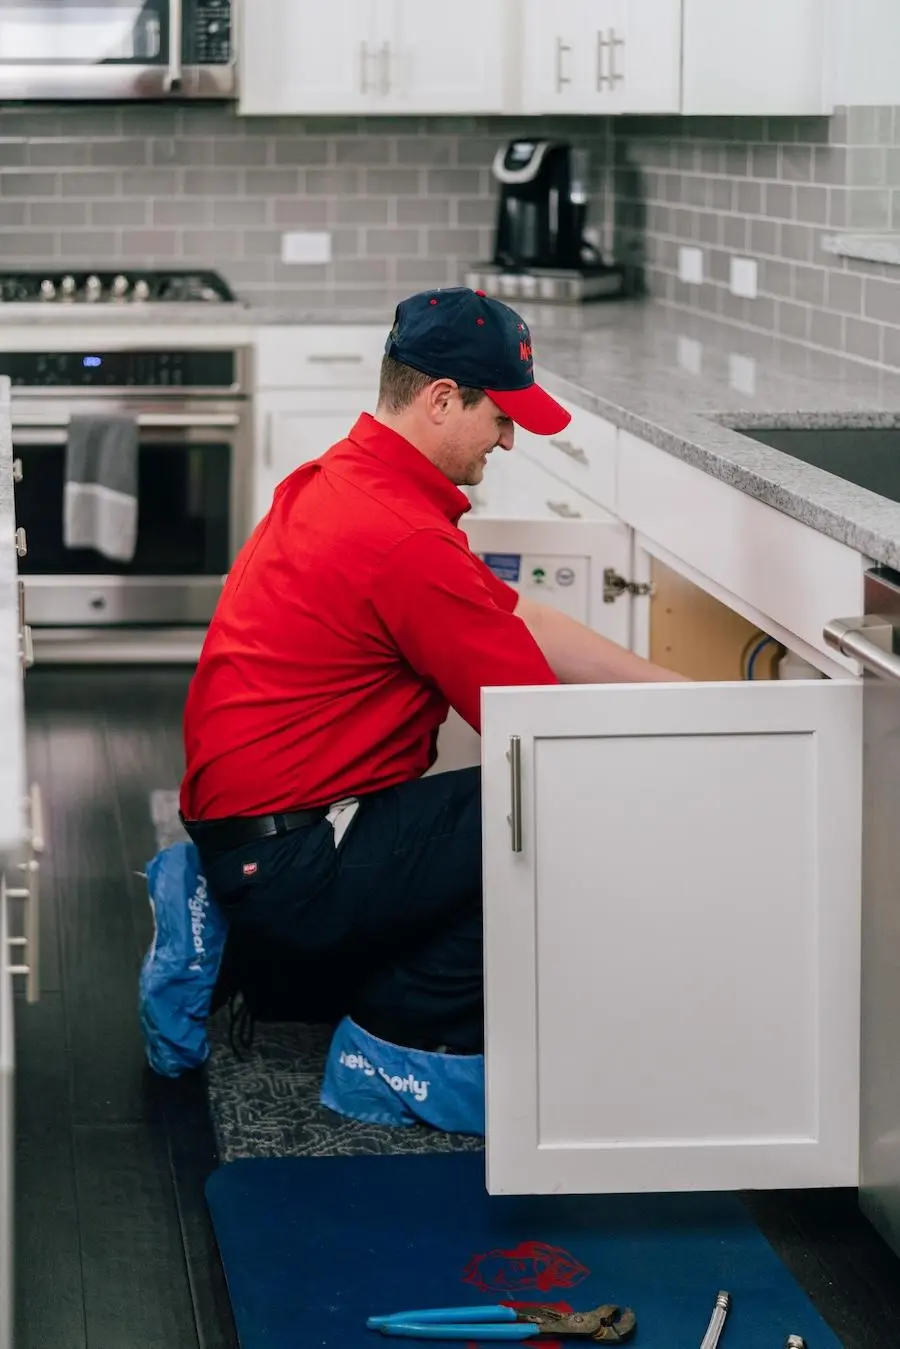
[[[684,674],[626,652],[568,614],[549,604],[519,596],[515,614],[541,648],[548,665],[563,684],[673,684],[690,683]]]

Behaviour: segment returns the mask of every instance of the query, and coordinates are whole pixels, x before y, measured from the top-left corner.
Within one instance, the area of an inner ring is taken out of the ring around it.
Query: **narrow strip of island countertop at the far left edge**
[[[0,376],[0,866],[23,840],[24,707],[19,657],[19,569],[13,544],[9,380]]]

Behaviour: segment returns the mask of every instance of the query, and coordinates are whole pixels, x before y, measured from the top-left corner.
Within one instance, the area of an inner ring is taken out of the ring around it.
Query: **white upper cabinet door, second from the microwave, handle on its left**
[[[393,0],[381,49],[385,112],[501,113],[510,107],[517,58],[507,0],[456,0],[452,23],[437,24],[422,0]]]

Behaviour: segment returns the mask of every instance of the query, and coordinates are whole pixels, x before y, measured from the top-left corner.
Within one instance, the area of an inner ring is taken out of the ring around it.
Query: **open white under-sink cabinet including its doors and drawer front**
[[[528,445],[472,548],[690,683],[488,688],[480,739],[444,728],[436,770],[482,765],[487,1187],[855,1184],[862,685],[820,629],[865,560],[609,424],[579,440],[614,444],[609,510],[538,518]],[[819,677],[777,679],[785,649]]]

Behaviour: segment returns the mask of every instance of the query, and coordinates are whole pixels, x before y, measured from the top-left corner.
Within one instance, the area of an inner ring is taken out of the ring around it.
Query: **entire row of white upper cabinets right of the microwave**
[[[831,111],[826,0],[252,0],[244,115]]]

